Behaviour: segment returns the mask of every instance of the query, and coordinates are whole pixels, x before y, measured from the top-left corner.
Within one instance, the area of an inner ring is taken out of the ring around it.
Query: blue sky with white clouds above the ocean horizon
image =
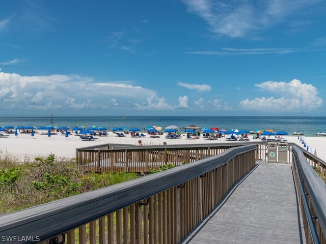
[[[0,1],[2,115],[325,116],[324,0]]]

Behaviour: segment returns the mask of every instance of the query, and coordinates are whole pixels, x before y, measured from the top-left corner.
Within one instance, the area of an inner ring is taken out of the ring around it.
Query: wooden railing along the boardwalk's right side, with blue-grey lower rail
[[[326,243],[326,185],[315,171],[319,163],[308,164],[307,155],[297,146],[292,147],[292,152],[293,175],[303,213],[306,241]]]

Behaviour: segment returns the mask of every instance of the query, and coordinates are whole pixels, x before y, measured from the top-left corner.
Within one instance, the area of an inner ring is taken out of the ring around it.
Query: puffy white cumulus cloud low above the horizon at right
[[[269,98],[244,99],[239,103],[241,109],[262,112],[300,112],[312,111],[322,106],[317,88],[311,84],[303,84],[300,80],[286,82],[266,81],[256,84],[263,93],[274,96]]]

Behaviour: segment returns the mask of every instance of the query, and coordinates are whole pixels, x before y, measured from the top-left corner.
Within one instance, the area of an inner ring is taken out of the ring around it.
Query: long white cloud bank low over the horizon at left
[[[20,76],[0,72],[0,104],[8,109],[33,110],[108,109],[118,105],[119,108],[132,109],[134,103],[146,101],[147,96],[156,96],[153,90],[132,83],[94,82],[92,78],[76,75]],[[157,107],[167,107],[165,104],[159,100]],[[154,107],[154,102],[150,106]]]

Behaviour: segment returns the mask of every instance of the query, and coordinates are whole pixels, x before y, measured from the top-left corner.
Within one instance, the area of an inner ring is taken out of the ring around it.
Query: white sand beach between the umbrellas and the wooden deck
[[[17,137],[10,134],[8,138],[0,138],[0,158],[6,156],[12,157],[17,161],[31,162],[36,157],[47,157],[48,155],[55,154],[56,158],[75,158],[75,149],[78,147],[85,147],[90,145],[106,144],[106,143],[119,143],[138,145],[138,140],[142,140],[143,145],[162,145],[164,141],[168,145],[173,144],[200,144],[200,143],[221,143],[225,142],[226,138],[219,138],[218,140],[207,140],[203,137],[200,139],[186,139],[182,136],[180,139],[166,139],[165,135],[160,138],[132,138],[130,135],[126,137],[116,137],[113,133],[108,133],[106,137],[96,137],[94,141],[82,141],[79,136],[71,135],[66,138],[64,135],[57,134],[48,137],[47,135],[35,134],[32,137],[29,134],[19,134]],[[249,136],[252,139],[252,135]],[[283,136],[288,142],[297,143],[298,146],[304,147],[304,144],[297,139],[297,136]],[[324,137],[303,137],[306,146],[315,148],[316,156],[323,161],[326,161],[326,150],[324,145],[326,143],[326,136]],[[236,142],[235,142],[236,143]]]

